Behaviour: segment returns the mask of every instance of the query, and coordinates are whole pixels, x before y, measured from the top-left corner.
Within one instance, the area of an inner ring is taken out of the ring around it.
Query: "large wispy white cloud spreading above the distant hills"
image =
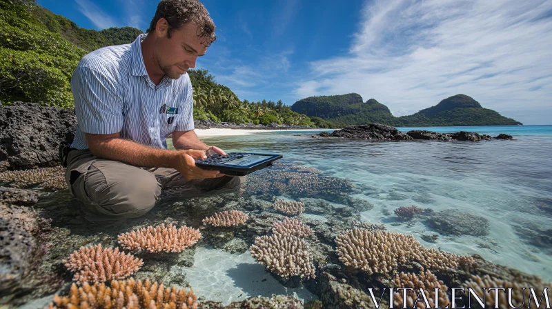
[[[358,92],[402,115],[463,93],[522,122],[552,119],[551,12],[547,0],[371,1],[350,52],[311,63],[295,94]]]

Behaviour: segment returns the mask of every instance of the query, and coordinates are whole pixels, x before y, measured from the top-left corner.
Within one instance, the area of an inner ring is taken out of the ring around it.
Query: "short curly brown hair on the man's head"
[[[205,38],[204,45],[210,46],[217,39],[213,19],[209,17],[209,12],[204,5],[197,0],[161,0],[157,5],[155,16],[151,20],[150,28],[146,32],[155,31],[157,21],[161,18],[168,23],[167,36],[169,38],[173,30],[193,21],[201,29],[197,35]]]

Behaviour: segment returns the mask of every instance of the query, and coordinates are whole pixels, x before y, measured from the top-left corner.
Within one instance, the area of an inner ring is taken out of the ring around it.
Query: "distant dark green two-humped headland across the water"
[[[394,117],[387,106],[369,99],[364,102],[356,93],[308,97],[291,106],[291,110],[311,117],[322,126],[343,127],[367,123],[390,126],[509,126],[522,124],[506,118],[494,110],[482,108],[473,98],[457,94],[442,100],[436,106],[415,114]]]

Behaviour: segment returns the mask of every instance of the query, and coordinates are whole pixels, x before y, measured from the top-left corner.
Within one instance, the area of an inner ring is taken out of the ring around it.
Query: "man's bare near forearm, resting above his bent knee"
[[[112,138],[97,143],[88,143],[92,154],[101,159],[109,159],[144,168],[175,168],[177,152],[151,148],[121,138]]]

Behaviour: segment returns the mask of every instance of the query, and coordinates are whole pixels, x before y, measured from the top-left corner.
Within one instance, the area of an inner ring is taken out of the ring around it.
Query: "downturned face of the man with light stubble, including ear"
[[[165,23],[164,19],[159,22]],[[155,46],[155,60],[159,68],[171,79],[179,79],[189,68],[195,68],[197,57],[201,57],[207,51],[207,47],[202,44],[204,38],[198,37],[200,29],[189,22],[180,29],[172,30],[170,39],[167,36],[168,30],[165,27],[157,28],[157,44]]]

